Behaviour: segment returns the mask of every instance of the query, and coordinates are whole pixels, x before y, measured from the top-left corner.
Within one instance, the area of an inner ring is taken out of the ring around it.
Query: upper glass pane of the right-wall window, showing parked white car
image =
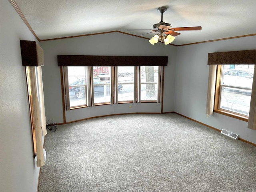
[[[223,85],[252,88],[254,65],[223,65]]]

